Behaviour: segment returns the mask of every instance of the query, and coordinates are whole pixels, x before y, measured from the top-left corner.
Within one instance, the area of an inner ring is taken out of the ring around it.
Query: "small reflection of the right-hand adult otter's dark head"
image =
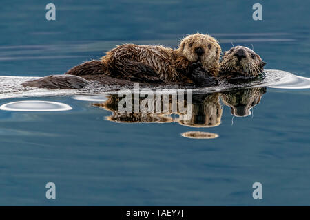
[[[223,104],[231,107],[231,114],[237,117],[251,115],[251,109],[260,103],[266,87],[240,89],[221,94]]]

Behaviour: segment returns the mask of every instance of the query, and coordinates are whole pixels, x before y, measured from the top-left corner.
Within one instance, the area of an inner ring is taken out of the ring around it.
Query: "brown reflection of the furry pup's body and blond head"
[[[178,122],[184,126],[194,127],[210,127],[218,126],[220,124],[220,118],[222,116],[222,107],[220,106],[219,94],[193,94],[191,100],[188,100],[187,96],[183,99],[174,100],[172,96],[165,96],[159,99],[154,97],[154,100],[149,102],[145,101],[145,98],[138,98],[138,104],[152,109],[156,109],[154,113],[147,112],[134,112],[134,95],[130,100],[131,109],[127,109],[127,112],[121,112],[123,107],[123,97],[118,95],[111,95],[106,102],[92,104],[94,107],[101,107],[107,111],[111,111],[112,115],[107,117],[107,120],[112,122],[125,122],[125,123],[169,123]],[[165,102],[165,97],[167,102]],[[152,99],[151,99],[152,100]],[[174,119],[173,114],[178,115],[179,118]]]

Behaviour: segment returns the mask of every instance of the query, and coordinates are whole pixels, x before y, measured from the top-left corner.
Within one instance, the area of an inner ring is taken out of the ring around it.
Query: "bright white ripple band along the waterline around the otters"
[[[39,97],[39,96],[74,96],[74,95],[91,95],[84,98],[76,98],[79,100],[94,99],[94,94],[116,94],[117,91],[123,89],[121,85],[103,85],[101,83],[90,82],[90,85],[83,89],[38,89],[32,87],[23,87],[21,83],[28,80],[35,80],[39,77],[18,77],[18,76],[0,76],[0,99],[18,98],[18,97]],[[193,94],[229,91],[238,88],[254,88],[254,87],[272,87],[278,89],[309,89],[310,78],[296,76],[289,72],[278,69],[266,69],[265,78],[260,81],[250,83],[221,83],[216,87],[193,88]],[[125,87],[132,89],[132,87]],[[141,87],[142,88],[142,87]],[[151,87],[150,89],[172,89],[180,88],[179,85],[166,85],[163,87]],[[184,87],[183,87],[184,88]],[[102,98],[102,97],[101,97]],[[96,97],[94,101],[101,98]]]

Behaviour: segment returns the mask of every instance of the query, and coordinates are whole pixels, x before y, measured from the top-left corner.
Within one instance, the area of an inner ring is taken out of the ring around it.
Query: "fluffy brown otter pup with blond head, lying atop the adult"
[[[161,45],[120,45],[98,61],[73,67],[65,74],[83,76],[105,74],[141,83],[191,81],[190,65],[200,62],[205,72],[217,76],[220,45],[207,34],[192,34],[180,41],[177,49]],[[90,69],[90,70],[87,70]]]

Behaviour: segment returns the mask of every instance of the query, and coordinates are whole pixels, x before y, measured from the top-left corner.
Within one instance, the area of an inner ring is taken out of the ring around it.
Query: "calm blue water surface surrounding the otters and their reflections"
[[[310,77],[310,3],[260,1],[2,1],[0,75],[62,74],[121,43],[176,47],[193,32],[254,47],[267,69]],[[72,96],[71,111],[0,111],[0,205],[310,205],[309,89],[271,89],[254,114],[222,104],[219,126],[124,124]],[[233,120],[233,123],[232,123]],[[187,131],[216,139],[182,137]],[[56,199],[45,184],[56,184]],[[262,183],[254,200],[252,184]]]

